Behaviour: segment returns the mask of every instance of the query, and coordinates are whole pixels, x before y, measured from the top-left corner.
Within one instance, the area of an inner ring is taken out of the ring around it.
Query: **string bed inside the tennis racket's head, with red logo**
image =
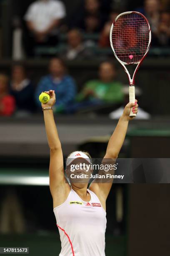
[[[117,57],[128,64],[140,61],[149,46],[149,27],[142,15],[120,16],[112,30],[112,45]]]

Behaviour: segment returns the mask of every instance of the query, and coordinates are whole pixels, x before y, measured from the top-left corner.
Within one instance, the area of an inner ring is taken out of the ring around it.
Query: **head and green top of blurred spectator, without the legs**
[[[105,61],[100,64],[99,79],[87,82],[82,92],[77,95],[77,101],[92,104],[120,103],[123,100],[122,84],[115,80],[114,64]]]

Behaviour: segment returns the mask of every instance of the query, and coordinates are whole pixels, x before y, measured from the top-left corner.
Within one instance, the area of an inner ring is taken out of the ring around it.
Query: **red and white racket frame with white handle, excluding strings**
[[[120,17],[123,16],[123,15],[131,14],[131,13],[135,13],[135,14],[141,15],[141,16],[145,19],[145,21],[147,22],[147,24],[148,24],[148,30],[149,30],[149,42],[148,42],[148,48],[147,48],[147,50],[146,50],[144,56],[142,57],[142,59],[141,59],[140,61],[127,63],[127,62],[121,61],[121,60],[117,57],[117,55],[116,55],[116,53],[115,53],[115,50],[114,50],[114,47],[113,47],[113,44],[112,44],[112,31],[113,31],[114,24],[115,24],[115,22],[116,22],[116,20],[117,20],[118,18],[120,18]],[[149,25],[149,22],[148,22],[147,18],[146,18],[142,13],[135,12],[135,11],[129,11],[129,12],[120,13],[120,14],[115,18],[115,20],[113,21],[112,26],[111,26],[111,28],[110,28],[110,45],[111,45],[112,51],[113,51],[113,53],[114,53],[114,55],[115,55],[115,58],[120,62],[120,64],[121,64],[121,65],[123,66],[123,68],[125,69],[126,74],[128,75],[128,79],[129,79],[129,101],[130,101],[130,103],[135,103],[135,75],[136,75],[136,73],[137,73],[137,71],[138,71],[138,69],[139,69],[139,67],[140,67],[140,64],[143,62],[143,60],[145,59],[145,57],[146,57],[147,54],[148,54],[148,51],[149,51],[149,48],[150,48],[150,43],[151,43],[151,30],[150,30],[150,25]],[[137,67],[135,68],[135,71],[134,71],[134,73],[133,73],[133,77],[132,77],[132,78],[131,78],[131,76],[130,76],[130,73],[128,72],[128,69],[127,69],[126,66],[125,66],[125,65],[131,65],[131,64],[137,64]],[[131,108],[131,110],[130,110],[130,117],[135,117],[135,116],[136,116],[136,114],[133,113],[132,108]]]

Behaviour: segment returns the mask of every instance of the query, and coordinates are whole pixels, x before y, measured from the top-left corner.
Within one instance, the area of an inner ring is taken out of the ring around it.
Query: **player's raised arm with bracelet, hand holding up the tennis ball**
[[[55,91],[50,90],[46,93],[50,95],[50,100],[46,104],[42,103],[42,109],[44,112],[48,145],[50,147],[50,191],[53,197],[59,187],[64,187],[65,176],[61,143],[58,137],[53,111],[51,109],[55,104]]]

